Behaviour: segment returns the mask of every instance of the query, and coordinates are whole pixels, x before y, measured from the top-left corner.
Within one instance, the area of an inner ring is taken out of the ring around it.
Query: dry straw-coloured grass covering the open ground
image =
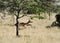
[[[60,28],[46,28],[54,20],[54,15],[51,20],[34,18],[32,27],[19,30],[20,37],[16,37],[15,26],[0,25],[0,43],[60,43]]]

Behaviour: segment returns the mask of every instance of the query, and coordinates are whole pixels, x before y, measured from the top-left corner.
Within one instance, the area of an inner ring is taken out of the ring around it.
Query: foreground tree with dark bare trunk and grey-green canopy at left
[[[9,13],[13,13],[16,16],[16,24],[15,24],[16,36],[19,36],[19,34],[18,34],[19,21],[18,21],[18,19],[24,16],[23,15],[23,16],[19,17],[20,11],[24,8],[24,4],[23,4],[24,0],[11,0],[11,1],[10,0],[9,1],[1,0],[0,2],[1,2],[1,4],[0,4],[1,11],[7,10]],[[16,12],[17,12],[17,14],[16,14]]]

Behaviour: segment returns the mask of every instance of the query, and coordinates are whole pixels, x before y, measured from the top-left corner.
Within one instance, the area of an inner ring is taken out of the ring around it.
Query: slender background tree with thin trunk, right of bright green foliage
[[[53,11],[53,9],[55,8],[55,6],[53,5],[54,4],[54,1],[53,0],[43,0],[43,5],[44,5],[44,9],[45,9],[45,12],[48,13],[49,15],[49,20],[50,20],[50,15],[51,15],[51,12]]]

